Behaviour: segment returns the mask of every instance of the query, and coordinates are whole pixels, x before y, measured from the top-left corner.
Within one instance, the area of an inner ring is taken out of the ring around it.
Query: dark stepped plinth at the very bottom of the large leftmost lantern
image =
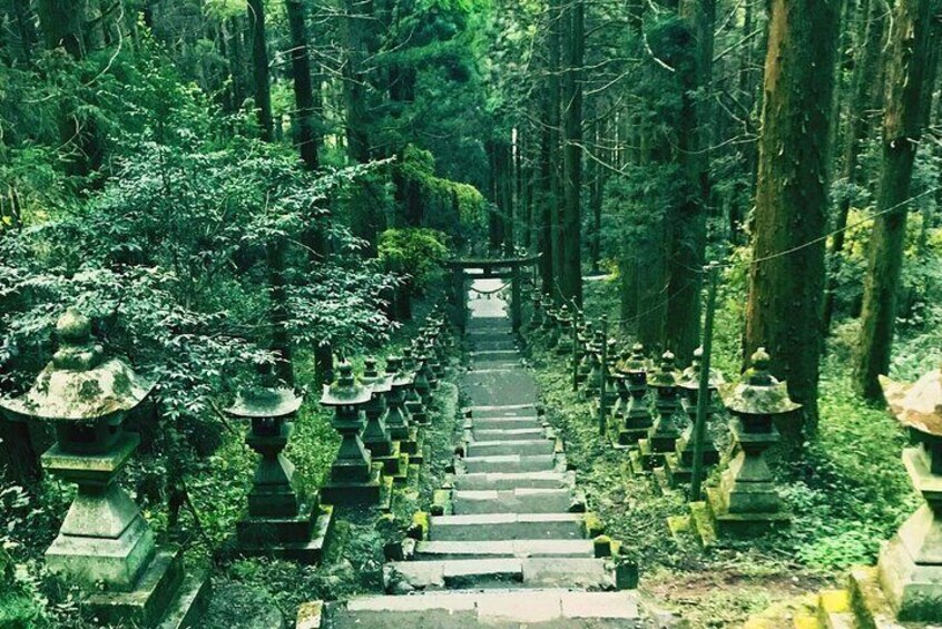
[[[185,574],[183,553],[166,548],[157,551],[133,590],[91,594],[82,613],[100,625],[177,629],[197,626],[209,593],[208,572]]]

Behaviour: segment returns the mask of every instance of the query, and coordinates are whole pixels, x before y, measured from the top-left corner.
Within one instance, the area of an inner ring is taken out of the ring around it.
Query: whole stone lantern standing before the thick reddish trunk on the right
[[[738,449],[718,488],[707,488],[707,513],[719,537],[748,537],[787,525],[788,514],[775,490],[765,451],[778,441],[775,417],[802,407],[788,397],[785,382],[771,373],[769,355],[759,347],[738,383],[719,386],[734,415],[730,432]]]

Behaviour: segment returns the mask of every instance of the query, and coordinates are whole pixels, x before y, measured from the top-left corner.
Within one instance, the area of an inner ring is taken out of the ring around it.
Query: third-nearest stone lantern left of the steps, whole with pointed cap
[[[324,385],[321,404],[333,406],[333,425],[341,435],[336,459],[331,465],[330,481],[321,490],[328,504],[377,503],[381,498],[381,471],[373,465],[370,451],[360,439],[363,409],[372,391],[353,376],[353,366],[344,361],[337,366],[337,381]]]

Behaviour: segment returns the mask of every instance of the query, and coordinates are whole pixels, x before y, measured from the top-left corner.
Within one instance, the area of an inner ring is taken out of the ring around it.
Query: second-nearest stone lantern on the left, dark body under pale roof
[[[318,563],[330,534],[333,509],[297,487],[294,465],[283,451],[302,399],[290,389],[263,387],[239,393],[225,410],[249,420],[245,442],[262,455],[248,493],[248,517],[236,523],[238,551]]]

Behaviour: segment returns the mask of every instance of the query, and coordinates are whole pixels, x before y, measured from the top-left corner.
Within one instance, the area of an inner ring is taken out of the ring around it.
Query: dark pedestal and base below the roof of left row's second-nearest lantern
[[[262,455],[248,494],[248,517],[236,523],[238,552],[318,563],[333,525],[333,509],[317,495],[298,491],[294,465],[282,451],[293,432],[282,423],[277,434],[249,432],[245,442]]]

